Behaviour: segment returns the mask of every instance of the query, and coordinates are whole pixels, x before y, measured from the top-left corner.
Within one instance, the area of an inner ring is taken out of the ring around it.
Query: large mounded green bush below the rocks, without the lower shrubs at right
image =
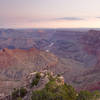
[[[32,100],[75,100],[76,91],[69,85],[57,85],[52,80],[46,84],[45,88],[39,91],[33,91]]]

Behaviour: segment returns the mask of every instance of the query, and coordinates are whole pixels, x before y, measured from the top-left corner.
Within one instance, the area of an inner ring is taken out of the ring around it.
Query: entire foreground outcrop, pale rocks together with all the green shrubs
[[[25,84],[0,100],[100,100],[100,92],[77,92],[61,75],[43,70],[30,73]]]

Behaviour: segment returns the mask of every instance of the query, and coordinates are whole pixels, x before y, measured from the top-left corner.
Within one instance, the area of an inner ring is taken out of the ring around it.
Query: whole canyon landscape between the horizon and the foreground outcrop
[[[0,29],[0,93],[33,71],[61,74],[79,90],[99,90],[100,31]]]

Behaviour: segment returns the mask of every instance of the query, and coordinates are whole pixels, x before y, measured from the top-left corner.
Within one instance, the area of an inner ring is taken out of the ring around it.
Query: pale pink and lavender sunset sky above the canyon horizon
[[[0,28],[100,28],[100,0],[0,0]]]

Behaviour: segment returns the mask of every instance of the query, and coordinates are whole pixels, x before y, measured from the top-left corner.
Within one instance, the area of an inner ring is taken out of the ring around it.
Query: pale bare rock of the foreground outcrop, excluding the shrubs
[[[39,75],[39,81],[37,85],[32,85],[32,82],[36,80],[37,75]],[[50,82],[51,79],[55,79],[56,85],[64,85],[64,77],[55,75],[53,72],[48,70],[43,70],[40,72],[33,72],[30,73],[28,76],[25,77],[23,80],[23,85],[21,87],[17,87],[16,89],[24,88],[26,89],[27,93],[22,98],[22,100],[30,100],[33,91],[42,90],[45,88],[46,84]],[[15,90],[14,90],[15,91]],[[14,100],[12,93],[8,95],[0,95],[0,100]]]

